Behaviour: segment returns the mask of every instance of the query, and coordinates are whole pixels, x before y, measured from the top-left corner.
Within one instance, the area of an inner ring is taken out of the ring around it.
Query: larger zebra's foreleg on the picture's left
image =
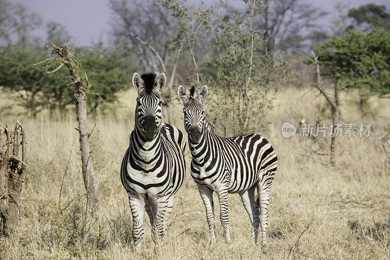
[[[141,248],[142,240],[144,238],[144,229],[143,229],[143,214],[145,207],[145,200],[142,197],[137,197],[128,193],[129,203],[131,214],[133,215],[133,230],[132,236],[134,241],[134,246],[136,250]]]

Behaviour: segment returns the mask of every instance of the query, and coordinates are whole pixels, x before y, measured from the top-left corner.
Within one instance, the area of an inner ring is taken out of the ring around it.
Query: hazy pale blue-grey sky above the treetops
[[[335,16],[334,6],[338,2],[349,4],[351,7],[358,7],[372,2],[389,5],[389,0],[306,1],[330,13],[323,21],[319,21],[323,25],[328,24],[331,17]],[[14,0],[12,2],[23,3],[31,11],[38,13],[44,23],[53,20],[65,25],[73,37],[72,42],[76,42],[81,38],[78,45],[90,45],[92,42],[98,42],[100,38],[105,44],[109,41],[112,14],[108,0]],[[36,30],[36,33],[38,36],[45,38],[44,26]]]

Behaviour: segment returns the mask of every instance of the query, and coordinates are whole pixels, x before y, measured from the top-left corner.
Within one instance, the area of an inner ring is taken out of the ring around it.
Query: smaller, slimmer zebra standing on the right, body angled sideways
[[[184,128],[188,133],[193,158],[191,176],[198,186],[206,207],[211,240],[216,240],[213,192],[218,196],[220,219],[227,243],[232,243],[229,233],[228,193],[238,193],[252,222],[254,243],[257,242],[260,222],[262,246],[265,252],[268,201],[277,167],[277,157],[273,147],[265,138],[256,134],[224,138],[213,133],[210,124],[203,117],[202,102],[208,94],[207,86],[200,88],[196,97],[194,87],[191,88],[190,96],[187,96],[182,86],[179,86],[177,94],[184,103]],[[255,189],[257,189],[258,201],[255,201]]]

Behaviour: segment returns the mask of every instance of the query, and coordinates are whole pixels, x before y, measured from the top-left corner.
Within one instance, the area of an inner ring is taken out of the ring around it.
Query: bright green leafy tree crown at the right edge
[[[342,89],[360,88],[384,97],[390,93],[390,32],[378,27],[370,32],[350,30],[314,44],[322,74]]]

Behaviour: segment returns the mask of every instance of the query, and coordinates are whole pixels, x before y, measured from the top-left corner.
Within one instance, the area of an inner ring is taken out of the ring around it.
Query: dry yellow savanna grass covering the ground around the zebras
[[[302,118],[315,123],[320,117],[329,126],[331,112],[325,100],[310,88],[290,87],[276,94],[269,131],[260,133],[273,144],[279,159],[270,196],[268,255],[261,253],[261,246],[250,244],[249,218],[237,194],[229,201],[233,244],[224,242],[217,204],[218,241],[209,244],[203,202],[189,167],[165,240],[151,241],[145,214],[146,236],[137,253],[119,177],[134,128],[135,95],[133,89],[122,93],[116,114],[89,116],[90,129],[96,122],[90,141],[95,170],[102,179],[95,219],[86,209],[75,112],[43,112],[28,119],[12,95],[0,92],[1,124],[12,125],[19,119],[28,127],[29,157],[19,196],[20,226],[10,237],[0,238],[0,259],[76,259],[73,241],[86,259],[390,259],[390,162],[382,146],[390,131],[389,100],[370,98],[370,113],[363,116],[358,95],[342,93],[341,121],[372,127],[370,137],[339,138],[332,166],[329,156],[322,155],[329,153],[329,139],[321,141],[322,147],[312,146],[311,139],[297,134],[285,139],[281,132],[283,122],[297,126]],[[183,129],[180,109],[177,101],[176,126]],[[187,151],[188,162],[189,157]]]

